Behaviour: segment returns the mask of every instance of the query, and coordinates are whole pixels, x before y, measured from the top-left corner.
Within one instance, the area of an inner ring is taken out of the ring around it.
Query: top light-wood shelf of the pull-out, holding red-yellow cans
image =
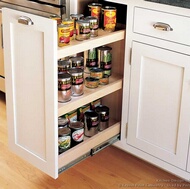
[[[58,47],[57,59],[83,52],[89,50],[90,48],[96,48],[108,43],[113,43],[124,39],[124,37],[125,30],[105,32],[104,30],[99,29],[98,37],[85,41],[72,40],[69,45],[64,47]]]

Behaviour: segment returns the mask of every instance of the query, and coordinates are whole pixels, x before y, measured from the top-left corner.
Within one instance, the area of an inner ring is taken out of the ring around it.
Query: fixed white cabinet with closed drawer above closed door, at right
[[[122,146],[190,180],[190,18],[133,7],[129,19],[129,112],[122,120],[127,121]]]

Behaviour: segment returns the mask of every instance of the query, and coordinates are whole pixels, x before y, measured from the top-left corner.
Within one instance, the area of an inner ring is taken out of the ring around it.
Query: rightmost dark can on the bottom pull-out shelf
[[[97,106],[95,112],[99,117],[99,131],[103,131],[109,126],[109,108],[107,106]]]

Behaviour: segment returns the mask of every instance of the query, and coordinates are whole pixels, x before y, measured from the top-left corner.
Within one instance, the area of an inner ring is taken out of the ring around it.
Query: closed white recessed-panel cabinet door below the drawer
[[[190,56],[133,42],[127,143],[186,170]]]

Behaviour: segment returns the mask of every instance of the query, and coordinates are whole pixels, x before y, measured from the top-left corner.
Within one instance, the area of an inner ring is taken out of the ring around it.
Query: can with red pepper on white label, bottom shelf
[[[84,124],[81,121],[71,121],[69,124],[71,129],[71,146],[83,142],[84,140]]]

